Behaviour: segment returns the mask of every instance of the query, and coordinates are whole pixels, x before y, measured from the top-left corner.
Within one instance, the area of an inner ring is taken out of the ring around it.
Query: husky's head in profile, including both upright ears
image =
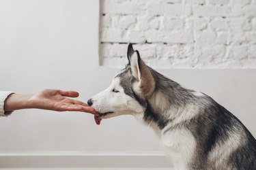
[[[150,67],[141,60],[139,52],[128,46],[128,65],[115,75],[111,85],[88,100],[99,118],[112,118],[145,111],[146,100],[155,88]]]

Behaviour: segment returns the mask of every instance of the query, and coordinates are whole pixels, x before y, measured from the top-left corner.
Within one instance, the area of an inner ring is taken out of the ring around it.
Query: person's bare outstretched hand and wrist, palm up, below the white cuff
[[[5,112],[16,109],[48,109],[57,112],[76,111],[97,114],[93,107],[87,103],[70,99],[68,97],[79,97],[79,92],[45,89],[41,92],[23,95],[12,94],[5,100]]]

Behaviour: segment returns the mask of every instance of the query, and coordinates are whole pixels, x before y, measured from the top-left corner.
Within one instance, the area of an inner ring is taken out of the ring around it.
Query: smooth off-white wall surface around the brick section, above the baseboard
[[[1,0],[0,89],[78,90],[87,101],[106,88],[118,70],[98,66],[98,15],[99,3],[92,0]],[[256,136],[255,70],[159,71],[212,96]],[[131,116],[100,126],[77,112],[29,109],[0,118],[1,155],[156,152],[161,150],[154,133]]]

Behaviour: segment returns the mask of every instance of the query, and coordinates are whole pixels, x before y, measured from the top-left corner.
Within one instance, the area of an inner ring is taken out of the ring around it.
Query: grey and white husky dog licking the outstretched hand
[[[256,169],[256,140],[238,118],[145,65],[132,44],[127,56],[109,88],[87,102],[96,120],[133,115],[154,129],[175,169]]]

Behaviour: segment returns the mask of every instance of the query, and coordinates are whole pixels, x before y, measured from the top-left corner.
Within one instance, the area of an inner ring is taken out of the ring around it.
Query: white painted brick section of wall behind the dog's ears
[[[256,0],[101,0],[100,65],[256,69]]]

